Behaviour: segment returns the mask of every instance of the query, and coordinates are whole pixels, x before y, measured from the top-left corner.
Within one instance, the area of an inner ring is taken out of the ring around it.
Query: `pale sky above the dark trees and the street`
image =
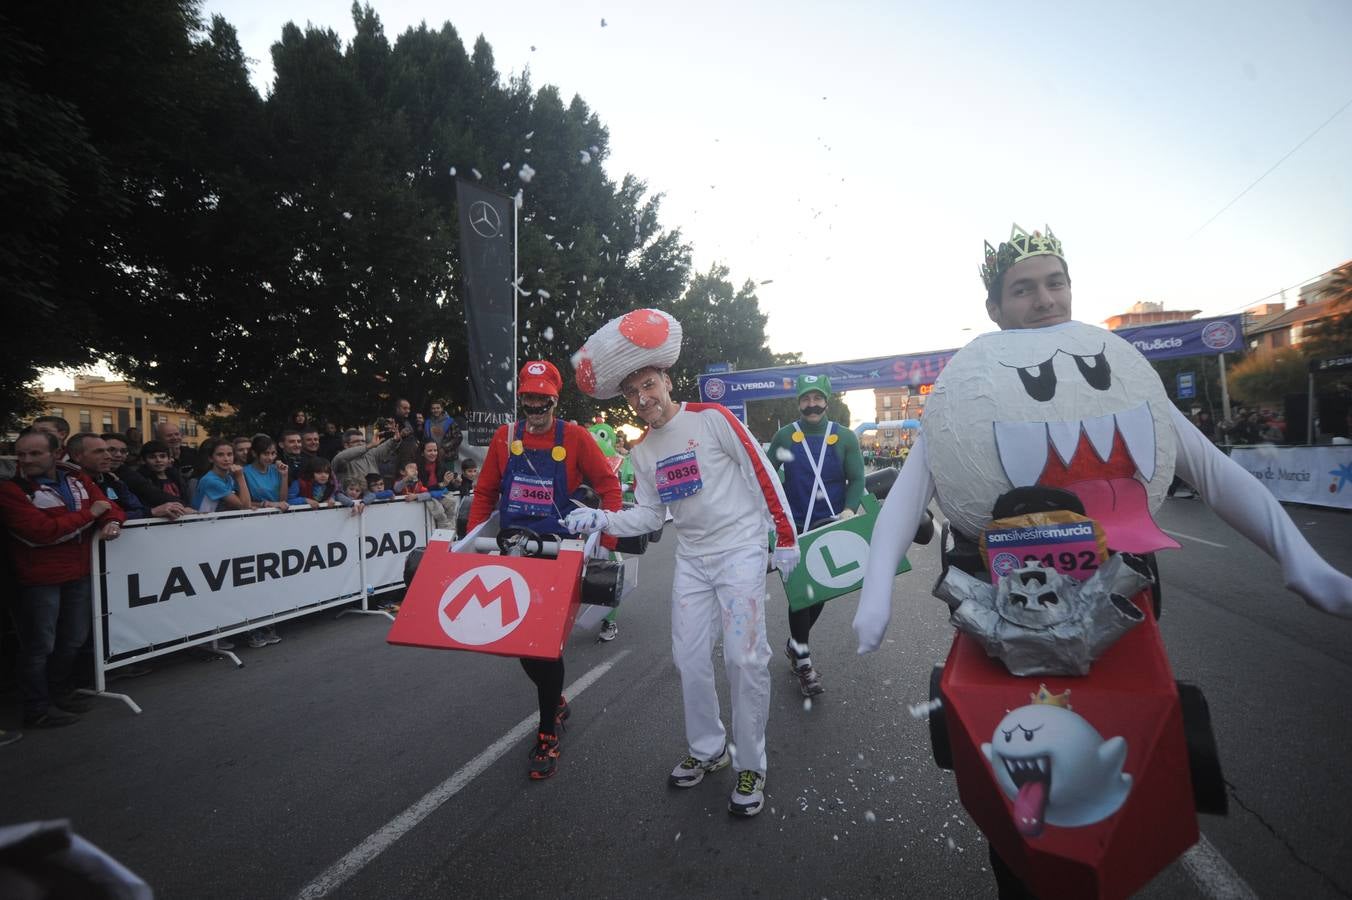
[[[450,20],[504,76],[581,95],[608,174],[665,195],[698,268],[771,281],[771,346],[808,362],[988,330],[982,242],[1011,222],[1052,226],[1094,323],[1237,311],[1352,257],[1352,109],[1206,224],[1352,100],[1345,0],[373,7],[392,42]],[[261,93],[287,20],[353,34],[343,0],[204,12]]]

